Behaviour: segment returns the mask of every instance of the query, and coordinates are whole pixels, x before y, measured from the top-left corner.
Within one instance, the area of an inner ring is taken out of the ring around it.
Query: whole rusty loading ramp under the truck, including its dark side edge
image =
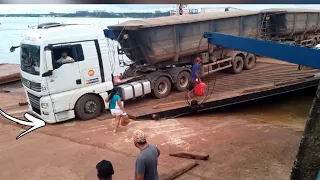
[[[190,107],[185,100],[185,92],[173,91],[163,99],[148,96],[127,101],[125,107],[130,114],[140,119],[173,118],[317,86],[319,73],[320,70],[298,70],[296,64],[260,57],[251,70],[240,74],[217,72],[205,78],[204,82],[209,86],[216,83],[210,97],[200,106]]]

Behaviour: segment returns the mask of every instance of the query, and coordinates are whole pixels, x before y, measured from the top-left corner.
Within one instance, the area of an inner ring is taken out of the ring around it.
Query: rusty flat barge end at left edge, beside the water
[[[0,85],[20,80],[20,66],[18,64],[0,64]]]

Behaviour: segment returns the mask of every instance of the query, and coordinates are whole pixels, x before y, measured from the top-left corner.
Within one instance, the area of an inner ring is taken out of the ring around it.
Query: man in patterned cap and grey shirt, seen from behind
[[[136,160],[135,180],[159,180],[157,167],[160,150],[157,146],[147,143],[141,130],[133,132],[133,142],[141,151]]]

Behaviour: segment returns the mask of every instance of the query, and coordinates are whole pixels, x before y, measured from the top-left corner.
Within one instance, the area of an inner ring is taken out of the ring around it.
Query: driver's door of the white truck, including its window
[[[49,93],[55,94],[65,91],[77,89],[81,86],[81,75],[79,70],[79,62],[84,58],[77,57],[77,51],[81,45],[77,43],[70,43],[67,45],[52,46],[52,75],[48,76],[48,90]],[[61,64],[58,60],[61,54],[66,52],[69,57],[75,60],[73,63]],[[48,62],[49,63],[49,62]]]

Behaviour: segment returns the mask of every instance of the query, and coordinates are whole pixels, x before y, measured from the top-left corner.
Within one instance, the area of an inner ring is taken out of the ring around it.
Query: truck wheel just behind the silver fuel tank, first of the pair
[[[154,88],[152,90],[153,96],[156,98],[167,97],[171,92],[171,82],[169,78],[162,76],[156,80],[154,83]]]

